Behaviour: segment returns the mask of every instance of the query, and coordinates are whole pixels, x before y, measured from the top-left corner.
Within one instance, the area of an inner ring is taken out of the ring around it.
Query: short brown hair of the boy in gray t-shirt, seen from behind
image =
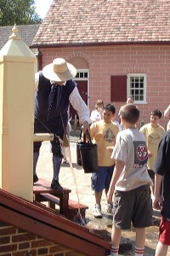
[[[120,116],[124,119],[127,123],[136,124],[139,120],[139,108],[135,105],[124,105],[121,108]]]

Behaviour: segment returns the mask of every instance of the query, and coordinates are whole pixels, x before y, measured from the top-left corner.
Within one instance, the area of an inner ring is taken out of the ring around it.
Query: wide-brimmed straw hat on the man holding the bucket
[[[57,58],[51,64],[43,67],[42,74],[46,79],[63,82],[76,77],[77,69],[64,59]]]

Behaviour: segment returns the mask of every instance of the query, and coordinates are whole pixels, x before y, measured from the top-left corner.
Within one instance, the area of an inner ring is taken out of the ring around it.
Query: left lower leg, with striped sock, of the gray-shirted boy
[[[111,256],[117,256],[119,250],[119,244],[121,241],[122,230],[117,229],[114,225],[111,231]]]

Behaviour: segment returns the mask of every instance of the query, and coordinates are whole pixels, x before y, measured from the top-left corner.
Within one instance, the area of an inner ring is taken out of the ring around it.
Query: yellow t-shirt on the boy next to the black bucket
[[[118,126],[111,122],[99,120],[90,126],[90,136],[98,145],[98,166],[112,166],[115,160],[111,160],[111,151],[107,147],[115,146]]]

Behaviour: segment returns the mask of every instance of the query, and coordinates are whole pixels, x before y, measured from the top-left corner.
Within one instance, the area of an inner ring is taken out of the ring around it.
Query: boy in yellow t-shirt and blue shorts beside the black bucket
[[[119,131],[118,126],[112,122],[116,113],[114,105],[107,104],[104,107],[103,119],[93,123],[90,126],[90,136],[98,145],[98,172],[92,174],[92,189],[95,195],[94,217],[102,218],[101,213],[101,196],[105,189],[107,195],[115,161],[111,160],[111,147],[116,143],[116,135]],[[106,212],[111,213],[111,204],[107,205]]]

